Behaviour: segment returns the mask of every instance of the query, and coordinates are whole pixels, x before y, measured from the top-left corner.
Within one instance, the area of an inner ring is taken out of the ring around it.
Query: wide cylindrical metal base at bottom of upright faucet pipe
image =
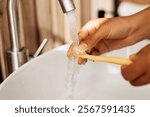
[[[20,51],[8,51],[7,60],[8,60],[8,74],[16,71],[21,65],[26,63],[29,58],[29,52],[26,48],[23,48]]]

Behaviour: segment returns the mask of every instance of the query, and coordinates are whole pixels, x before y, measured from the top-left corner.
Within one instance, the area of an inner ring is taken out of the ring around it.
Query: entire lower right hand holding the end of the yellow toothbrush
[[[141,86],[150,83],[150,44],[132,55],[133,63],[129,66],[122,66],[122,75],[134,86]]]

